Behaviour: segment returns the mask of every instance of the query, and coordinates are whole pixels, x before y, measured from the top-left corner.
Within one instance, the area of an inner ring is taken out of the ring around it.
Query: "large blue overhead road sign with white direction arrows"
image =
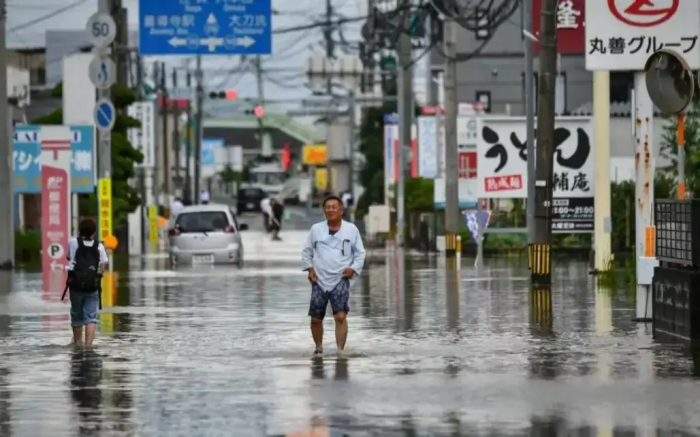
[[[272,0],[139,0],[142,55],[272,54]]]

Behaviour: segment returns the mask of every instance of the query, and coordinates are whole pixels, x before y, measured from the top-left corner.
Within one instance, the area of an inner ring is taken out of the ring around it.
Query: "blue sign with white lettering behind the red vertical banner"
[[[95,191],[95,127],[70,126],[71,188],[74,193]],[[41,126],[15,126],[12,142],[14,191],[17,194],[41,193]]]

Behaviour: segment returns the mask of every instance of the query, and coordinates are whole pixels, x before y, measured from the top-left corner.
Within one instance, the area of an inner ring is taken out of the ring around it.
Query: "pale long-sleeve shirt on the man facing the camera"
[[[354,224],[343,220],[338,232],[331,235],[328,223],[323,221],[311,227],[301,259],[303,269],[313,268],[318,276],[318,285],[326,291],[338,285],[345,269],[353,269],[355,275],[350,279],[352,287],[365,264],[365,246]]]

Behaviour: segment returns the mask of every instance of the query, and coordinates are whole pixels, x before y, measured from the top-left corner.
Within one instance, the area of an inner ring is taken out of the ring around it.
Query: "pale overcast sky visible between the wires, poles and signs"
[[[76,3],[79,0],[7,0],[7,28],[22,25],[51,14],[53,11]],[[143,1],[143,0],[142,0]],[[176,1],[176,0],[150,0]],[[129,27],[138,28],[139,0],[124,0],[129,10]],[[333,0],[336,11],[345,17],[357,17],[366,14],[367,0]],[[275,29],[310,24],[319,20],[325,13],[325,0],[272,0],[273,8],[281,15],[273,18]],[[54,17],[38,22],[22,30],[8,32],[8,47],[43,47],[44,32],[50,29],[84,29],[83,23],[97,10],[97,0],[84,0],[80,5]],[[359,39],[361,23],[343,25],[344,36],[351,43]],[[336,34],[336,39],[337,34]],[[268,98],[298,99],[308,96],[304,87],[305,62],[314,53],[322,54],[323,41],[321,29],[312,29],[273,37],[274,54],[266,56],[264,68],[271,71],[266,74],[265,94]],[[172,65],[180,64],[180,58],[167,58]],[[236,88],[241,98],[256,96],[255,76],[252,73],[232,74],[230,68],[239,65],[239,57],[205,57],[204,68],[209,87],[221,89]],[[193,64],[194,65],[194,64]],[[275,71],[285,69],[284,72]]]

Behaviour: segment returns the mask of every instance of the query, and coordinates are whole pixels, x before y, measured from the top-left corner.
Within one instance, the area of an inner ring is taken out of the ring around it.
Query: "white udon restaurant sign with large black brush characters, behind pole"
[[[483,118],[477,143],[480,198],[527,197],[525,117]],[[535,132],[535,136],[537,133]],[[593,126],[589,117],[557,117],[554,129],[554,197],[593,197]]]

